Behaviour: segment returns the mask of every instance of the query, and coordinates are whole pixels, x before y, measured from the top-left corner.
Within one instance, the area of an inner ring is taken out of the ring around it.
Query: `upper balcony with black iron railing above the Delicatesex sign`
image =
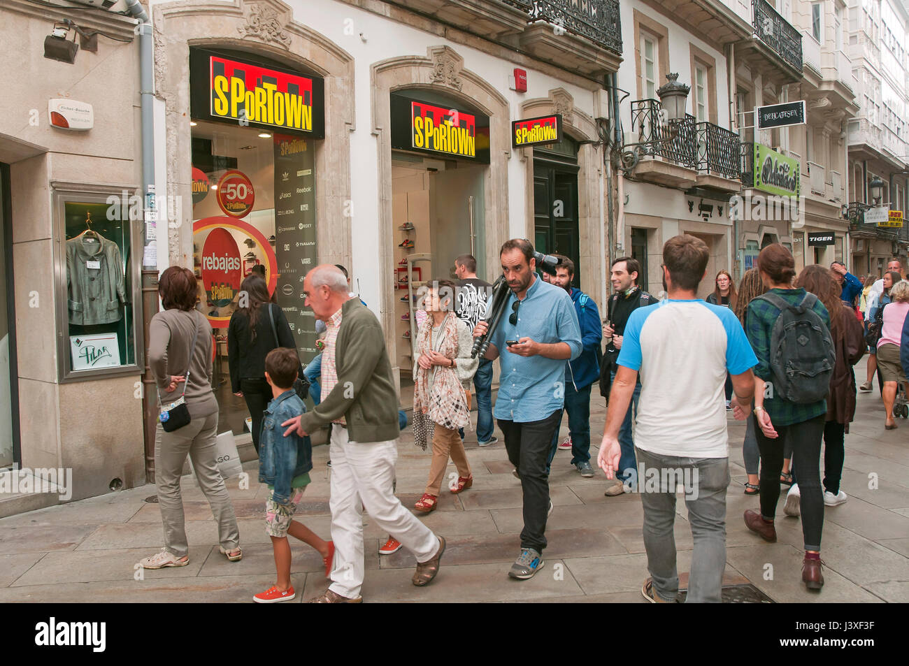
[[[752,0],[752,39],[740,44],[741,56],[755,74],[776,84],[802,78],[802,34],[766,0]]]

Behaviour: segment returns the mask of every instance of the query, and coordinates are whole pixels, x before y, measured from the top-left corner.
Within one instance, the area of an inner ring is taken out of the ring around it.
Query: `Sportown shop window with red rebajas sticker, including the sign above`
[[[317,353],[303,280],[318,263],[315,149],[325,134],[324,81],[265,59],[195,48],[190,79],[194,268],[215,330],[219,430],[240,434],[248,411],[231,391],[227,327],[247,276],[265,278],[300,360]]]

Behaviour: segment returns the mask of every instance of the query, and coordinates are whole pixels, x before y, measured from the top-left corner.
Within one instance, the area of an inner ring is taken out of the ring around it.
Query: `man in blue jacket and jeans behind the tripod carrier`
[[[596,352],[602,352],[600,343],[603,340],[603,324],[594,300],[571,285],[574,280],[574,262],[562,254],[555,256],[559,258],[559,263],[555,266],[552,283],[571,296],[574,313],[577,314],[581,327],[581,355],[576,360],[565,363],[564,411],[568,413],[568,429],[571,432],[571,463],[581,472],[581,476],[589,478],[594,475],[594,468],[590,466],[590,387],[600,378],[600,363]],[[549,450],[550,465],[555,457],[558,438],[556,428]]]

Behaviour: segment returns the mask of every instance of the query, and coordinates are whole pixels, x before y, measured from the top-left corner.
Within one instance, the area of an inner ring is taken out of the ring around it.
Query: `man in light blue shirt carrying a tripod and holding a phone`
[[[564,289],[536,277],[534,246],[529,241],[507,241],[499,257],[511,293],[485,357],[498,358],[501,364],[494,416],[524,491],[521,555],[508,572],[523,581],[544,563],[544,532],[552,507],[546,460],[562,420],[564,362],[580,355],[581,331]],[[474,337],[487,329],[485,322],[476,324]]]

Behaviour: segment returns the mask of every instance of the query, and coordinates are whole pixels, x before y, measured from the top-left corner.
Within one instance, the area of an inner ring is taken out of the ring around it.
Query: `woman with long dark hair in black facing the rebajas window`
[[[251,273],[240,284],[240,308],[231,315],[227,325],[231,391],[243,397],[253,417],[256,454],[262,413],[272,399],[271,386],[265,381],[265,356],[277,347],[296,349],[285,313],[270,301],[265,280]],[[302,369],[299,376],[303,376]]]

